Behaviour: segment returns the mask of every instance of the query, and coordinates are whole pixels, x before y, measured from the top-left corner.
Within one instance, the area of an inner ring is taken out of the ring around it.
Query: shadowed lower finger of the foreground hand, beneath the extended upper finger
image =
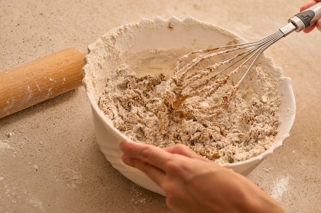
[[[142,160],[128,157],[125,154],[122,156],[122,160],[125,164],[130,165],[131,167],[134,167],[144,172],[157,185],[159,186],[162,185],[166,175],[164,171],[159,170],[153,165],[147,162],[144,162]]]

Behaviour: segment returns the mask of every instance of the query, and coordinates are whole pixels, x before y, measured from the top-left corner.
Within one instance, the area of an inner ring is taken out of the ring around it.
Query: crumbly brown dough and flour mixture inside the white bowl
[[[222,97],[241,74],[214,92],[219,82],[192,79],[183,88],[172,70],[188,52],[134,54],[109,77],[99,108],[133,141],[158,147],[185,144],[217,163],[244,161],[270,148],[279,124],[275,70],[258,62],[226,101]]]

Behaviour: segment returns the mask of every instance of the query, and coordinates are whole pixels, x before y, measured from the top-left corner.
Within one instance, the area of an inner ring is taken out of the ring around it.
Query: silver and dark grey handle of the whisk
[[[318,2],[306,10],[297,13],[292,18],[289,18],[288,22],[292,22],[296,27],[296,32],[300,32],[311,25],[314,25],[316,21],[321,18],[321,2]]]

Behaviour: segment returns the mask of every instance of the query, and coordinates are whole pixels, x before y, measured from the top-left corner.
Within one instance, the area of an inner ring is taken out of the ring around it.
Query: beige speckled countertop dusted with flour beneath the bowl
[[[2,0],[0,72],[69,47],[86,53],[107,31],[156,16],[193,16],[255,41],[304,2]],[[320,46],[321,32],[294,32],[265,53],[291,78],[296,119],[283,146],[248,178],[287,212],[321,212]],[[105,159],[81,86],[0,119],[0,212],[173,211]]]

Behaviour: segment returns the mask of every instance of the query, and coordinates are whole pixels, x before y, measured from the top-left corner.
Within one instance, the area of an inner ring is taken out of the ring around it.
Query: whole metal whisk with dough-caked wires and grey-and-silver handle
[[[244,74],[242,76],[242,72],[240,73],[238,82],[223,95],[220,101],[209,107],[214,109],[229,103],[229,100],[249,74],[259,56],[269,46],[293,31],[300,32],[306,29],[313,25],[320,17],[321,2],[294,15],[288,20],[287,25],[261,40],[193,51],[184,55],[176,62],[174,74],[169,80],[169,84],[174,84],[174,89],[167,93],[167,106],[175,112],[184,111],[182,113],[188,116],[190,112],[195,112],[197,107],[196,109],[193,107],[193,110],[187,109],[188,106],[184,106],[186,99],[200,96],[200,94],[205,98],[211,96],[219,87],[225,85],[231,76],[243,70]],[[192,59],[190,59],[191,57]],[[217,60],[218,57],[220,58],[219,60]],[[188,60],[190,62],[182,65],[183,62]],[[211,62],[214,61],[214,63],[206,65],[209,64],[209,60]],[[201,102],[200,100],[198,101]],[[182,113],[180,113],[180,116],[182,116]]]

